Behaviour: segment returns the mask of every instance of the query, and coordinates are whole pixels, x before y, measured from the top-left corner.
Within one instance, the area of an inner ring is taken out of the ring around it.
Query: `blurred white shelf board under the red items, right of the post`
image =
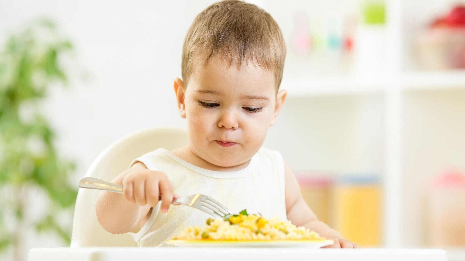
[[[465,70],[406,73],[402,83],[407,91],[465,88]]]

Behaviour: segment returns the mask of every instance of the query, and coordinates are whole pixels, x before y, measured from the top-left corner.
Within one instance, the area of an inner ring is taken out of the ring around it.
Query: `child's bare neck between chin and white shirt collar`
[[[171,151],[174,155],[180,157],[182,160],[186,161],[187,163],[191,163],[206,170],[214,170],[214,171],[235,171],[235,170],[242,170],[249,164],[250,160],[246,161],[245,163],[241,163],[236,166],[232,167],[221,167],[209,163],[208,161],[204,160],[203,158],[199,157],[189,145],[181,147],[179,149]]]

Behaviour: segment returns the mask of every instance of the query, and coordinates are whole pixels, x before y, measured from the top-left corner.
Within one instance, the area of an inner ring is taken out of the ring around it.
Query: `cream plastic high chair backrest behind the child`
[[[186,131],[179,128],[149,128],[121,137],[108,146],[93,161],[86,172],[92,176],[111,181],[127,170],[136,157],[160,147],[173,150],[187,144]],[[95,201],[100,190],[79,189],[73,217],[71,248],[135,246],[127,234],[114,235],[103,229],[95,215]]]

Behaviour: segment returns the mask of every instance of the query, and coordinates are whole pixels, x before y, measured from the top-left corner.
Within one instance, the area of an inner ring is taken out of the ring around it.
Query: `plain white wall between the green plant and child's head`
[[[89,74],[70,89],[51,90],[44,109],[79,173],[108,144],[149,126],[185,123],[173,80],[181,77],[182,43],[194,17],[212,0],[0,2],[0,35],[50,17],[74,43]]]

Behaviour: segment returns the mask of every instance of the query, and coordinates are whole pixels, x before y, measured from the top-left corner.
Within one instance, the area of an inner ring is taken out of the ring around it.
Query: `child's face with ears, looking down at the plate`
[[[286,91],[276,94],[274,74],[258,66],[238,70],[212,57],[194,68],[186,91],[180,79],[174,83],[190,149],[217,166],[246,163],[262,146]]]

